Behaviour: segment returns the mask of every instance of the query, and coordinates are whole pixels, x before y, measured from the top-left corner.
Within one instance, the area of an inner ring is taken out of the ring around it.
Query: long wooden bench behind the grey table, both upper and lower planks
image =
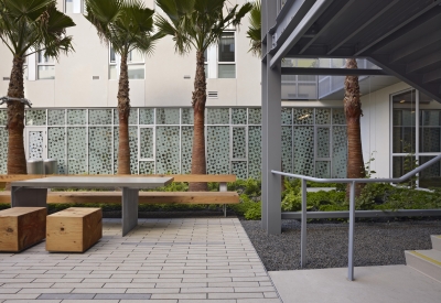
[[[29,177],[32,176],[32,177]],[[53,176],[53,175],[51,175]],[[100,175],[104,176],[104,175]],[[111,176],[111,175],[109,175]],[[139,192],[140,204],[220,204],[226,216],[227,204],[238,204],[236,192],[227,192],[227,182],[235,182],[235,175],[140,175],[171,176],[173,182],[217,182],[219,192]],[[0,175],[0,182],[22,181],[44,175]],[[121,203],[121,192],[50,192],[49,204]],[[10,203],[9,192],[0,192],[0,203]]]

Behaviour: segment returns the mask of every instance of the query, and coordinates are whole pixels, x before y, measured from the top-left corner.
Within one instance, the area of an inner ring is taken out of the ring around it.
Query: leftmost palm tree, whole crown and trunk
[[[12,53],[12,71],[8,87],[8,174],[25,174],[24,154],[24,84],[26,56],[42,52],[58,58],[73,51],[66,29],[75,26],[71,18],[56,9],[56,0],[0,0],[0,39]]]

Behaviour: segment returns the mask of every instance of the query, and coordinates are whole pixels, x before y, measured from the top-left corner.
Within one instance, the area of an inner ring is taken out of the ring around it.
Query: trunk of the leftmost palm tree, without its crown
[[[14,56],[12,61],[11,79],[9,82],[8,96],[24,98],[23,85],[24,57]],[[8,101],[8,174],[25,174],[26,158],[24,154],[24,104]]]

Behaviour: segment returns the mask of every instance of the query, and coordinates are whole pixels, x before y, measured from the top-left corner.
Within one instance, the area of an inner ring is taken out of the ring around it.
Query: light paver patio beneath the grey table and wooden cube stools
[[[85,253],[0,253],[0,302],[280,303],[236,218],[120,219]]]

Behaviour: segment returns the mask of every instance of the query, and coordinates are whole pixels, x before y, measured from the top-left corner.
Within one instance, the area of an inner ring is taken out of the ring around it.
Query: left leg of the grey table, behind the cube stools
[[[11,207],[46,207],[47,188],[11,186]]]

